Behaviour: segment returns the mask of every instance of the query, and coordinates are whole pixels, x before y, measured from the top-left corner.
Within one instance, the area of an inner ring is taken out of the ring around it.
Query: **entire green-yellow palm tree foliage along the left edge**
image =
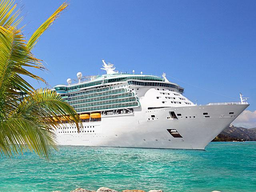
[[[20,9],[14,12],[14,0],[0,0],[0,156],[35,152],[46,159],[56,149],[56,120],[82,126],[74,108],[50,89],[35,90],[24,77],[46,81],[29,72],[44,70],[42,60],[32,54],[38,38],[68,4],[63,3],[27,41],[18,28]]]

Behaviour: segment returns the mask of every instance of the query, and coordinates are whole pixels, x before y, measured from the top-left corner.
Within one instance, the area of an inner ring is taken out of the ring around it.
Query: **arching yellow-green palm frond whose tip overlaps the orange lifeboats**
[[[82,122],[74,108],[64,102],[56,91],[50,89],[41,88],[25,97],[24,102],[16,109],[16,115],[26,119],[35,117],[55,128],[59,127],[60,124],[54,118],[59,121],[61,118],[65,118],[65,121],[70,124],[76,124],[78,131],[82,127]]]

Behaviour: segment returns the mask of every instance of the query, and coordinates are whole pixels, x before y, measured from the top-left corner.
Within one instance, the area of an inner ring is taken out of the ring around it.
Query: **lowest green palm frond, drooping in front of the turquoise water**
[[[52,130],[38,121],[25,118],[9,118],[0,123],[0,154],[13,156],[24,150],[36,152],[48,159],[56,149],[56,136]]]

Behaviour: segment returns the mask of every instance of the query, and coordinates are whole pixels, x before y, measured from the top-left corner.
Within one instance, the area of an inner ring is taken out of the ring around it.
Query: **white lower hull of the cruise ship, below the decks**
[[[102,116],[101,122],[83,123],[84,128],[80,133],[74,125],[72,128],[70,124],[63,124],[66,128],[58,129],[57,137],[60,145],[204,150],[247,106],[136,108],[130,114],[106,115]],[[178,120],[171,119],[170,111],[182,116],[178,116]],[[205,117],[204,112],[210,117]],[[234,112],[234,115],[230,115],[230,112]],[[182,138],[174,138],[167,129],[176,129]]]

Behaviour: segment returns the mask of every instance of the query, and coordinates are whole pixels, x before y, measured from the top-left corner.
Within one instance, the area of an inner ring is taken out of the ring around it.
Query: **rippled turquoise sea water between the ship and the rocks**
[[[256,142],[211,142],[205,151],[61,146],[0,159],[0,192],[69,192],[101,186],[164,192],[256,191]]]

